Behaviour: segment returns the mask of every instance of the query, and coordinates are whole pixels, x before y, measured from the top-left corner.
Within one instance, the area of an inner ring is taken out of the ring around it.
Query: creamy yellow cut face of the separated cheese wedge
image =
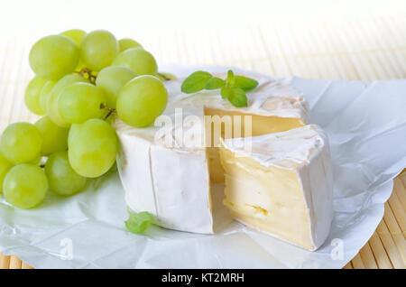
[[[264,167],[221,147],[226,199],[231,216],[295,245],[314,249],[297,171]]]

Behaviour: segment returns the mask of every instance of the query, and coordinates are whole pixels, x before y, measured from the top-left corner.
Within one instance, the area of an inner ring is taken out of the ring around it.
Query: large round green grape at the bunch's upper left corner
[[[79,51],[75,42],[64,35],[40,39],[30,51],[30,66],[38,77],[60,79],[78,65]]]

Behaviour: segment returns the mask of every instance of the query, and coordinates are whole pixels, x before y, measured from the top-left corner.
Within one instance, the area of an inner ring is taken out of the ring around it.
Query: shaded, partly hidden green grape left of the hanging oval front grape
[[[68,149],[69,128],[55,125],[49,116],[40,118],[34,125],[42,135],[42,155],[47,156]]]

